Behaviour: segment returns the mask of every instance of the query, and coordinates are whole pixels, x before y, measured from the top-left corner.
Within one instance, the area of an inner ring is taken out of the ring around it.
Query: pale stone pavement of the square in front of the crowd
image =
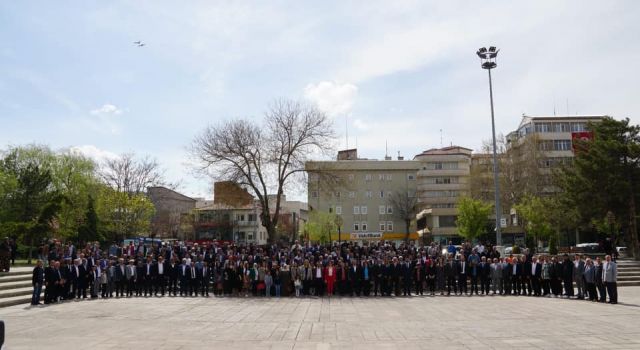
[[[640,349],[618,305],[534,297],[131,298],[0,310],[6,349]]]

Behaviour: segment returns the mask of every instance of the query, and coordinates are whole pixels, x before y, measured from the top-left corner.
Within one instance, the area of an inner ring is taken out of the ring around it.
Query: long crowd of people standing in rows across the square
[[[33,270],[33,305],[150,296],[528,295],[617,303],[617,267],[576,254],[500,256],[491,246],[373,242],[187,246],[51,244]],[[42,254],[44,251],[41,252]],[[44,256],[43,256],[44,258]],[[45,260],[45,261],[43,261]],[[45,264],[47,265],[45,267]]]

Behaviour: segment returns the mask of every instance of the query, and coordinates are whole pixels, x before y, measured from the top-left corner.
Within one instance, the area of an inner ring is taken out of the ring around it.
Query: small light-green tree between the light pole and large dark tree
[[[529,245],[535,247],[537,241],[547,241],[554,234],[551,223],[552,199],[545,197],[526,196],[515,208],[518,216],[524,221],[524,229],[529,237]],[[529,246],[528,245],[528,246]],[[532,248],[529,246],[529,248]]]

